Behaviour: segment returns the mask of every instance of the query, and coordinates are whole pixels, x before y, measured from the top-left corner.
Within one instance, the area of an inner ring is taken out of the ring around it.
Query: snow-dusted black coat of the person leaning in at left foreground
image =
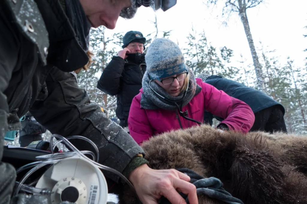
[[[91,139],[99,148],[99,163],[119,172],[144,153],[78,87],[70,71],[84,66],[88,58],[58,1],[1,0],[0,28],[0,160],[5,132],[21,129],[19,118],[29,110],[53,134]],[[92,150],[80,140],[73,144]],[[4,169],[11,169],[4,165],[0,162],[0,172],[6,175]]]

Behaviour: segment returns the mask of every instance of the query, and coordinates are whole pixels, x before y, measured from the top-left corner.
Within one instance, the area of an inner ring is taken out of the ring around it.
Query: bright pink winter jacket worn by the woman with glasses
[[[202,123],[204,111],[207,110],[213,115],[225,118],[221,123],[226,124],[229,130],[247,133],[251,129],[255,121],[255,115],[249,105],[228,96],[225,92],[216,89],[212,85],[202,82],[199,78],[196,78],[196,82],[202,88],[201,92],[182,108],[182,111],[188,111],[189,118]],[[141,108],[142,93],[143,89],[132,100],[128,117],[130,135],[138,144],[154,135],[180,129],[179,121],[183,129],[198,125],[176,114],[176,111]]]

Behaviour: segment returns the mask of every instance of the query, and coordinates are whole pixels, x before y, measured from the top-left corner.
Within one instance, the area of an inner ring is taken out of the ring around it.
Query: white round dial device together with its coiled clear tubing
[[[57,139],[55,143],[53,143],[54,138]],[[89,142],[95,149],[95,153],[78,150],[69,142],[71,139],[81,139]],[[54,153],[54,149],[59,143],[64,143],[71,151]],[[14,196],[23,191],[34,195],[45,195],[49,200],[49,204],[56,204],[61,201],[104,204],[107,203],[107,184],[100,169],[115,173],[134,190],[130,181],[120,172],[98,163],[99,150],[95,143],[88,138],[83,136],[64,138],[53,134],[50,139],[50,150],[50,154],[38,156],[36,157],[38,161],[26,164],[16,170],[18,174],[31,168],[19,182],[16,182]],[[90,155],[92,160],[86,155]],[[43,176],[32,183],[25,184],[25,181],[34,172],[46,165],[51,165],[51,167],[48,168]],[[69,170],[68,167],[70,166],[72,166],[72,170]],[[76,175],[79,175],[79,177]],[[37,185],[34,187],[36,183]],[[98,199],[96,199],[97,197]]]

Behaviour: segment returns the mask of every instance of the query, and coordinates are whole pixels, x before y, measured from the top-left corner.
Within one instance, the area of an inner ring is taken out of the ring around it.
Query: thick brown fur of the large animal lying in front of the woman
[[[210,126],[161,134],[143,143],[150,167],[214,176],[245,204],[307,204],[307,136],[220,132]],[[121,204],[134,203],[126,189]],[[206,196],[201,204],[223,203]]]

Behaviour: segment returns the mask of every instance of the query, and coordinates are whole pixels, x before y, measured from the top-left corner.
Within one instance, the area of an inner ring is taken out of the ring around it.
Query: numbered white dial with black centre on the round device
[[[75,177],[63,178],[52,189],[51,203],[68,201],[84,204],[87,200],[87,189],[82,180]]]

